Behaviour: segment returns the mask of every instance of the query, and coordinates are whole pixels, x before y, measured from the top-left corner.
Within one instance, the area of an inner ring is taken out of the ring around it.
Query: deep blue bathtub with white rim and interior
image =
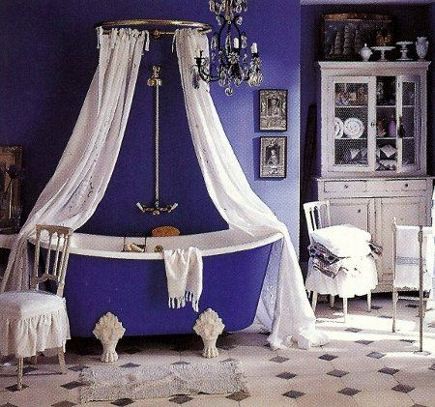
[[[76,233],[70,250],[65,297],[71,334],[90,337],[107,312],[116,315],[126,336],[191,333],[199,314],[191,304],[168,308],[164,249],[198,247],[203,254],[199,313],[215,310],[228,331],[254,320],[272,244],[280,234],[261,238],[224,230],[165,238],[122,238]],[[123,252],[124,244],[145,245],[145,253]]]

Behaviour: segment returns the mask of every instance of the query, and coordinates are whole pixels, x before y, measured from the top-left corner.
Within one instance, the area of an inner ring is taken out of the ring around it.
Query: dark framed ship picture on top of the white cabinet
[[[364,44],[394,45],[393,20],[384,14],[335,13],[322,16],[324,60],[361,61]]]

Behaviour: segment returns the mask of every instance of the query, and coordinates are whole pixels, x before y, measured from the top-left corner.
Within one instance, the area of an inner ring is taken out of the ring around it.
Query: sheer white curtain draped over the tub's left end
[[[29,287],[27,239],[37,223],[77,229],[95,212],[112,176],[148,33],[99,33],[100,60],[57,169],[12,246],[1,291]]]

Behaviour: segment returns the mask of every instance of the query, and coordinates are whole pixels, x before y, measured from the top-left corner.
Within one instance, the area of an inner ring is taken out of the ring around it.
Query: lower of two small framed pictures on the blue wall
[[[260,137],[260,178],[287,176],[287,137]]]

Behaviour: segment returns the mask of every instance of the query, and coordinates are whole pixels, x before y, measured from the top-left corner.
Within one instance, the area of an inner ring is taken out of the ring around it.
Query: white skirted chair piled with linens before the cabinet
[[[315,311],[318,294],[343,299],[344,321],[347,299],[367,295],[371,310],[371,291],[378,284],[376,263],[372,256],[371,235],[352,225],[331,225],[329,201],[304,204],[310,238],[310,258],[305,287],[312,291]]]

